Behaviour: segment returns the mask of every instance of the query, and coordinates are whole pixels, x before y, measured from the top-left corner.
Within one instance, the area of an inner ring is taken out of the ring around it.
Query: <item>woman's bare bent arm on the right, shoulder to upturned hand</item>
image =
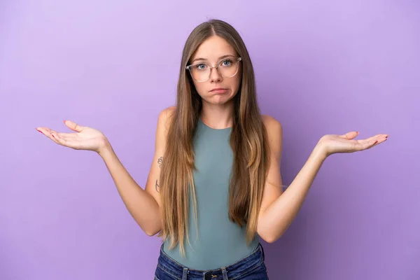
[[[358,136],[358,132],[323,136],[293,182],[281,194],[281,190],[279,190],[281,176],[277,167],[279,167],[281,159],[282,129],[277,120],[272,120],[267,122],[267,130],[272,166],[269,169],[258,217],[258,234],[270,243],[279,239],[292,223],[307,197],[316,174],[329,155],[364,151],[383,143],[388,138],[388,134],[377,134],[367,139],[354,140]],[[269,183],[270,181],[273,183]]]

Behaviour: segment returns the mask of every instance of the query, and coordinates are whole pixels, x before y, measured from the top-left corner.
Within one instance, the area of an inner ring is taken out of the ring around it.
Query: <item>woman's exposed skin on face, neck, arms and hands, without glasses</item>
[[[191,58],[193,63],[201,63],[212,67],[214,65],[229,65],[229,61],[221,62],[223,57],[237,57],[235,49],[223,38],[212,36],[208,38]],[[230,61],[233,61],[232,59]],[[222,64],[221,64],[222,63]],[[232,125],[233,97],[237,94],[241,81],[241,64],[235,76],[224,77],[217,68],[211,68],[209,79],[204,82],[194,80],[194,86],[202,97],[202,115],[204,123],[215,129],[223,129]],[[216,89],[221,88],[223,92]],[[167,133],[169,107],[160,113],[155,139],[155,155],[146,182],[142,189],[132,179],[130,174],[114,153],[105,135],[92,127],[77,125],[69,120],[64,124],[73,132],[63,133],[48,127],[36,129],[56,144],[75,150],[89,150],[98,153],[116,183],[118,192],[127,209],[140,227],[148,235],[155,235],[161,230],[159,176],[160,165],[165,158],[165,143]],[[270,150],[269,172],[264,186],[260,214],[258,216],[258,235],[267,242],[279,239],[300,210],[304,199],[315,179],[323,161],[334,153],[354,153],[365,151],[377,146],[388,138],[388,134],[377,134],[367,139],[356,140],[358,132],[346,134],[327,134],[318,141],[307,162],[296,178],[283,193],[280,176],[281,150],[283,130],[281,123],[270,116],[262,116],[267,129]]]

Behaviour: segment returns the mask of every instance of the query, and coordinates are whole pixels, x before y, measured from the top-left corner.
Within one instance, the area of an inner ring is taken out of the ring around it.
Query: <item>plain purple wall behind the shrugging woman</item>
[[[420,279],[418,1],[0,2],[0,279],[152,279],[141,231],[101,158],[36,132],[102,130],[144,188],[183,44],[230,22],[253,59],[262,113],[283,124],[290,185],[324,134],[390,134],[332,155],[285,235],[271,279]]]

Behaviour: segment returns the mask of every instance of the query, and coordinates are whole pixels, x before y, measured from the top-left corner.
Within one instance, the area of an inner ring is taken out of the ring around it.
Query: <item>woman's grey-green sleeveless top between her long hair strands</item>
[[[193,173],[197,199],[197,232],[195,230],[193,197],[190,196],[188,236],[185,240],[186,258],[179,253],[179,244],[169,250],[170,240],[163,251],[170,258],[190,269],[210,270],[231,265],[257,248],[258,234],[249,246],[245,226],[240,228],[228,217],[229,180],[233,153],[229,146],[228,127],[221,130],[205,125],[201,118],[193,139],[195,167]]]

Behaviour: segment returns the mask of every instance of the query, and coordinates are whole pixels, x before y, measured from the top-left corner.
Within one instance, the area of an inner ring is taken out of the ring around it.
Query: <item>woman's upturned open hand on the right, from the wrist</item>
[[[318,146],[325,153],[325,157],[328,157],[333,153],[353,153],[367,150],[388,139],[388,134],[377,134],[367,139],[354,140],[358,134],[358,132],[348,132],[343,135],[327,134],[318,141]]]

